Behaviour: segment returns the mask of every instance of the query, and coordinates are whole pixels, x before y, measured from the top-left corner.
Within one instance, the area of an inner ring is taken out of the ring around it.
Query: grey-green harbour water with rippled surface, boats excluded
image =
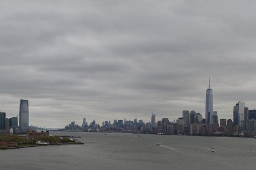
[[[255,169],[256,139],[55,132],[85,145],[0,150],[0,169]],[[160,142],[160,146],[156,146]],[[210,152],[209,148],[216,148]]]

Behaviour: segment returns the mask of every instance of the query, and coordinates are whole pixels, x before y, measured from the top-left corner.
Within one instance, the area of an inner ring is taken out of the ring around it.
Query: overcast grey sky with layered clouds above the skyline
[[[256,109],[255,1],[1,1],[0,111],[30,125]]]

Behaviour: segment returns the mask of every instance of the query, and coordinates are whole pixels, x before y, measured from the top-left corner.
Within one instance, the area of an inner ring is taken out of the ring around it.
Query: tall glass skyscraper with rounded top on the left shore
[[[21,132],[28,130],[28,100],[20,100],[19,105],[19,127]]]

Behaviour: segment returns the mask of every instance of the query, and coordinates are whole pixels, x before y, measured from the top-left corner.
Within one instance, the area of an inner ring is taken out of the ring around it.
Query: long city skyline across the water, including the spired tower
[[[102,122],[102,125],[95,121],[89,125],[84,118],[82,125],[75,122],[65,126],[62,130],[72,131],[122,131],[127,133],[147,133],[147,134],[187,134],[187,135],[256,135],[256,110],[249,110],[245,107],[245,102],[239,101],[233,109],[233,120],[221,118],[219,121],[218,112],[213,111],[213,91],[209,87],[206,90],[205,117],[196,111],[182,111],[182,117],[175,121],[168,118],[156,122],[156,116],[152,113],[151,122],[144,123],[143,120],[114,120]]]

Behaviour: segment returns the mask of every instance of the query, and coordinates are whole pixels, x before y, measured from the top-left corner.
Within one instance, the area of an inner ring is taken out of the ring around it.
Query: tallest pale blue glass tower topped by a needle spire
[[[207,125],[210,124],[210,120],[212,118],[213,111],[213,95],[212,89],[210,88],[210,79],[209,79],[209,87],[206,91],[206,99],[205,99],[205,119],[207,120]]]

